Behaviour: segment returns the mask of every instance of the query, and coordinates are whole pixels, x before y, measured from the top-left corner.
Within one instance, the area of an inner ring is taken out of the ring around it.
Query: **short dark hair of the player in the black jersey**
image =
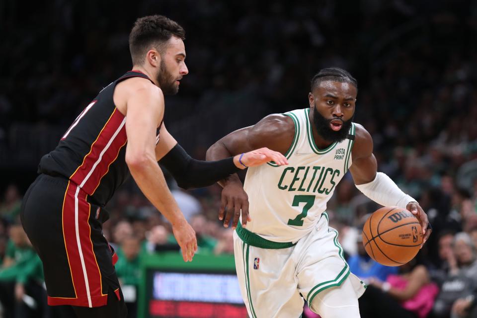
[[[184,40],[185,31],[177,22],[163,15],[148,15],[137,19],[129,34],[129,51],[133,64],[143,63],[144,54],[151,46],[163,50],[163,45],[172,36]]]

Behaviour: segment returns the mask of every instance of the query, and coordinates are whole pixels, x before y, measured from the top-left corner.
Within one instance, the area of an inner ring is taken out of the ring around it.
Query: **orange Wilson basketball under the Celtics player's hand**
[[[363,227],[363,245],[372,259],[386,266],[400,266],[416,256],[422,244],[421,225],[406,209],[384,207]]]

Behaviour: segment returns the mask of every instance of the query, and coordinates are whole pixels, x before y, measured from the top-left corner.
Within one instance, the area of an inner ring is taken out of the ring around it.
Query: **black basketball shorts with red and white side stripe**
[[[117,255],[101,232],[108,217],[62,177],[40,174],[29,187],[20,218],[43,261],[48,305],[100,307],[108,293],[120,299]]]

